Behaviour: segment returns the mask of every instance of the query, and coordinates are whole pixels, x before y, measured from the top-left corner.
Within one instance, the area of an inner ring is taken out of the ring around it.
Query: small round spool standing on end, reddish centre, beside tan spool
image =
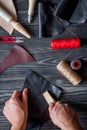
[[[70,66],[73,70],[79,70],[82,67],[82,63],[80,59],[72,60]]]

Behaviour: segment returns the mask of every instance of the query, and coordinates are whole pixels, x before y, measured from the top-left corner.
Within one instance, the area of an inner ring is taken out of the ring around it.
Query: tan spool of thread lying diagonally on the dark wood
[[[68,63],[64,60],[57,65],[57,70],[74,86],[78,85],[82,81],[82,78],[74,70],[72,70]]]

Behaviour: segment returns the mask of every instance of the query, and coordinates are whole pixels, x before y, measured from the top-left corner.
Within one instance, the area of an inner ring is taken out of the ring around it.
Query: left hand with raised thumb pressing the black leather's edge
[[[26,88],[22,94],[14,91],[12,97],[5,103],[3,113],[12,125],[11,130],[25,130],[28,117],[27,100],[28,89]]]

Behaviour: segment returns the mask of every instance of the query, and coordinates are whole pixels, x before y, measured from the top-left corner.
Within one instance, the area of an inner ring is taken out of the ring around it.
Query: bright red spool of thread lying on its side
[[[69,39],[60,39],[51,41],[52,49],[79,48],[79,47],[80,47],[79,38],[69,38]]]

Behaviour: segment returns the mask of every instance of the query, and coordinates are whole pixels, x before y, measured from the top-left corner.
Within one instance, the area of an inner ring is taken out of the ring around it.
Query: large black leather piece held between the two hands
[[[48,90],[55,99],[61,94],[61,90],[34,71],[29,70],[24,88],[29,88],[29,115],[27,129],[39,130],[44,122],[49,119],[48,104],[43,93]],[[24,89],[23,88],[23,89]]]

